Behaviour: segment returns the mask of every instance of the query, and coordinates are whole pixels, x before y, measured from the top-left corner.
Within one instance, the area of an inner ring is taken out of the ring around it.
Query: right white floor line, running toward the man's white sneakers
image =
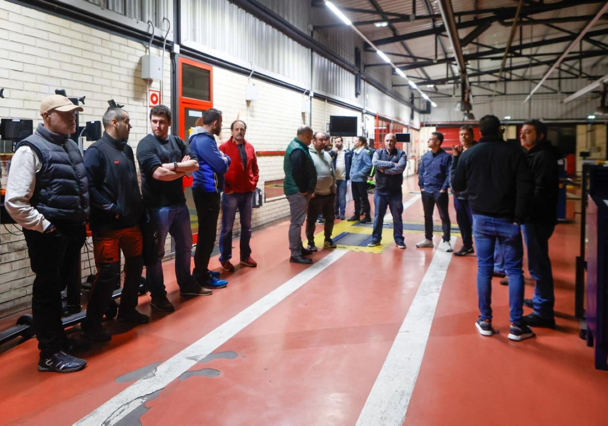
[[[452,237],[451,242],[454,246],[456,237]],[[451,260],[452,253],[435,250],[389,355],[365,401],[358,426],[403,424]]]

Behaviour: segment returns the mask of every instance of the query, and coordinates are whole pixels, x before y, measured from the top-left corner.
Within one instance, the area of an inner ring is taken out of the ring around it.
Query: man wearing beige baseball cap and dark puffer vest
[[[77,280],[80,249],[89,215],[89,185],[78,145],[76,111],[65,96],[40,103],[42,123],[13,155],[5,206],[23,228],[32,271],[33,327],[40,349],[39,371],[72,372],[86,361],[68,355],[80,342],[67,338],[61,323],[61,290]]]

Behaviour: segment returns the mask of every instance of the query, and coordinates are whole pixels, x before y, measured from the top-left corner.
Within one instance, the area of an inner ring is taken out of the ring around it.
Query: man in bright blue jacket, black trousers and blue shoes
[[[224,190],[224,173],[230,157],[218,149],[214,136],[222,130],[222,112],[211,108],[196,120],[190,136],[190,150],[200,168],[193,173],[192,195],[198,215],[198,240],[194,253],[193,276],[203,288],[223,288],[227,281],[209,271],[209,258],[217,235],[220,193]]]

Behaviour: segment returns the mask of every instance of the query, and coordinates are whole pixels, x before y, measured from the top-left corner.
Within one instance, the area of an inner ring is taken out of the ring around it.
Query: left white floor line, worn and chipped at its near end
[[[177,379],[179,375],[190,369],[199,360],[211,354],[235,334],[254,322],[255,319],[268,312],[272,307],[276,306],[347,253],[347,250],[334,250],[311,267],[306,268],[306,270],[303,270],[294,276],[294,278],[289,279],[289,281],[275,288],[268,295],[230,318],[226,323],[159,365],[155,372],[143,379],[137,380],[133,385],[92,411],[91,414],[80,419],[75,425],[109,426],[116,424],[116,422],[131,413],[142,402],[145,402],[148,395],[173,382],[173,380]]]

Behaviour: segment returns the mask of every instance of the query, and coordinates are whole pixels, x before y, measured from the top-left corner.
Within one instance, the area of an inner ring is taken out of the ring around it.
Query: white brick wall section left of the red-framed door
[[[100,120],[108,108],[107,100],[114,99],[130,114],[130,145],[136,147],[148,133],[147,83],[139,78],[144,44],[4,0],[0,0],[0,21],[0,87],[5,88],[5,99],[0,99],[1,117],[33,119],[36,126],[40,100],[62,88],[68,96],[86,96],[81,125]],[[155,48],[151,53],[161,54]],[[170,58],[166,54],[167,104],[170,83]],[[159,89],[160,83],[154,82],[151,88]],[[2,169],[4,187],[6,167]],[[88,242],[91,245],[90,239]],[[167,246],[169,249],[169,240]],[[90,257],[95,273],[92,253]],[[86,248],[82,265],[86,279],[91,273]],[[0,226],[0,317],[30,306],[33,278],[21,229]]]

